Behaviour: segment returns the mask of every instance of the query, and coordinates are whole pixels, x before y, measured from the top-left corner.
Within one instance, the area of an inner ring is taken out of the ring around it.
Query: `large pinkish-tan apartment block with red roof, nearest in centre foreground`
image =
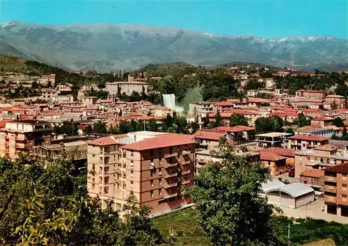
[[[191,202],[182,191],[193,184],[196,142],[192,136],[135,132],[88,142],[88,192],[106,205],[125,204],[134,193],[152,213]]]

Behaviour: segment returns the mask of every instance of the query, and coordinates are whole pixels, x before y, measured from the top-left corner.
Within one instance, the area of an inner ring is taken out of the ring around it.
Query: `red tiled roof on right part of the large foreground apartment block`
[[[191,145],[195,143],[191,135],[168,133],[156,136],[155,138],[147,138],[145,140],[125,145],[122,149],[141,151],[145,149],[158,149],[177,145]]]

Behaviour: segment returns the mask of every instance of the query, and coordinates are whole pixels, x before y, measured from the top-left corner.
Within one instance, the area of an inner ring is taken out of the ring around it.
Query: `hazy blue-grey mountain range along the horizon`
[[[310,71],[348,69],[348,40],[331,36],[258,38],[132,24],[0,24],[0,54],[72,71],[139,69],[150,63],[242,61]]]

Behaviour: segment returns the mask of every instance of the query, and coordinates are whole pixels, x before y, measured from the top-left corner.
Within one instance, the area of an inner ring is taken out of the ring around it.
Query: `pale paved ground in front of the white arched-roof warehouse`
[[[324,199],[319,199],[307,206],[301,206],[299,208],[285,208],[280,207],[283,210],[283,215],[292,218],[315,218],[318,220],[335,221],[342,224],[348,224],[348,218],[331,215],[329,213],[324,213]]]

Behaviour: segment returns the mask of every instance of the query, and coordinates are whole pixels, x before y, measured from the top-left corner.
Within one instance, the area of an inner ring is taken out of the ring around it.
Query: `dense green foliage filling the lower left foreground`
[[[86,172],[69,161],[43,165],[22,156],[0,158],[0,240],[8,245],[159,245],[166,238],[152,225],[150,208],[133,195],[125,220],[109,202],[86,192]]]

